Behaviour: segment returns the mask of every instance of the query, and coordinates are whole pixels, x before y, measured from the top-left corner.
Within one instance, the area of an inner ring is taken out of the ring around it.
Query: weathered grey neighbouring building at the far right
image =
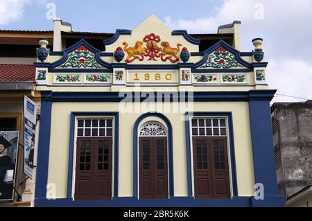
[[[312,101],[274,103],[272,128],[279,195],[286,206],[312,206]]]

